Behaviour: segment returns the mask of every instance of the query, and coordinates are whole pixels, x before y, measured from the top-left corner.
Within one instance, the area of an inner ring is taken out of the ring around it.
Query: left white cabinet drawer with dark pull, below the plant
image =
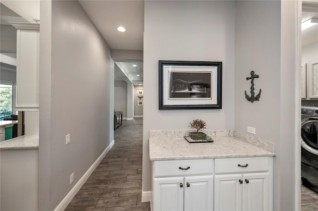
[[[213,159],[154,161],[154,177],[213,174],[213,169]]]

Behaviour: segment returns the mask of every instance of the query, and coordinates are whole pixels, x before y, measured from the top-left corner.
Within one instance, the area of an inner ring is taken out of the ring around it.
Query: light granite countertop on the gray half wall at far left
[[[25,135],[0,142],[0,150],[38,149],[39,135]]]

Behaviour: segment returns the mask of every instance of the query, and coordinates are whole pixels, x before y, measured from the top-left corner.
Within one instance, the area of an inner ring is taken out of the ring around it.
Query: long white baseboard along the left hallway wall
[[[88,168],[88,170],[84,173],[84,175],[79,179],[79,181],[74,185],[71,191],[66,195],[66,197],[62,200],[62,202],[54,209],[54,211],[64,211],[75,195],[79,192],[79,189],[86,182],[91,173],[95,170],[98,164],[102,161],[102,159],[106,156],[108,151],[114,146],[115,140],[113,140],[108,147],[104,150],[104,152],[95,160],[95,162]]]

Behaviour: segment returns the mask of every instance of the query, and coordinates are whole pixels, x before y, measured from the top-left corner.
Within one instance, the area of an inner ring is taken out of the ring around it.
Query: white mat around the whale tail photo
[[[212,99],[186,98],[184,100],[169,100],[169,72],[208,72],[211,73],[211,97]],[[163,105],[216,105],[218,103],[218,67],[217,66],[178,66],[163,65]]]

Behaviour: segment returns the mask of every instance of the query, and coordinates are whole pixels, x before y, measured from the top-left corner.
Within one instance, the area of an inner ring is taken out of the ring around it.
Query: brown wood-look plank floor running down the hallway
[[[123,120],[115,144],[66,208],[67,211],[150,211],[141,203],[143,119]]]

